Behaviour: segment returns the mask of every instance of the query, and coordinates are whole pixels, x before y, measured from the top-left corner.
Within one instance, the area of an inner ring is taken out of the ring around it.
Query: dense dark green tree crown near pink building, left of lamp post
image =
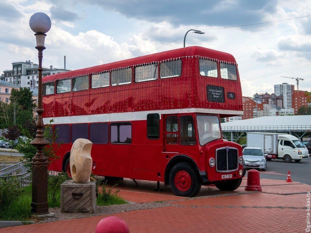
[[[20,89],[12,89],[10,101],[17,102],[23,110],[28,110],[33,112],[35,109],[35,100],[32,99],[32,91],[27,87],[21,87]]]

